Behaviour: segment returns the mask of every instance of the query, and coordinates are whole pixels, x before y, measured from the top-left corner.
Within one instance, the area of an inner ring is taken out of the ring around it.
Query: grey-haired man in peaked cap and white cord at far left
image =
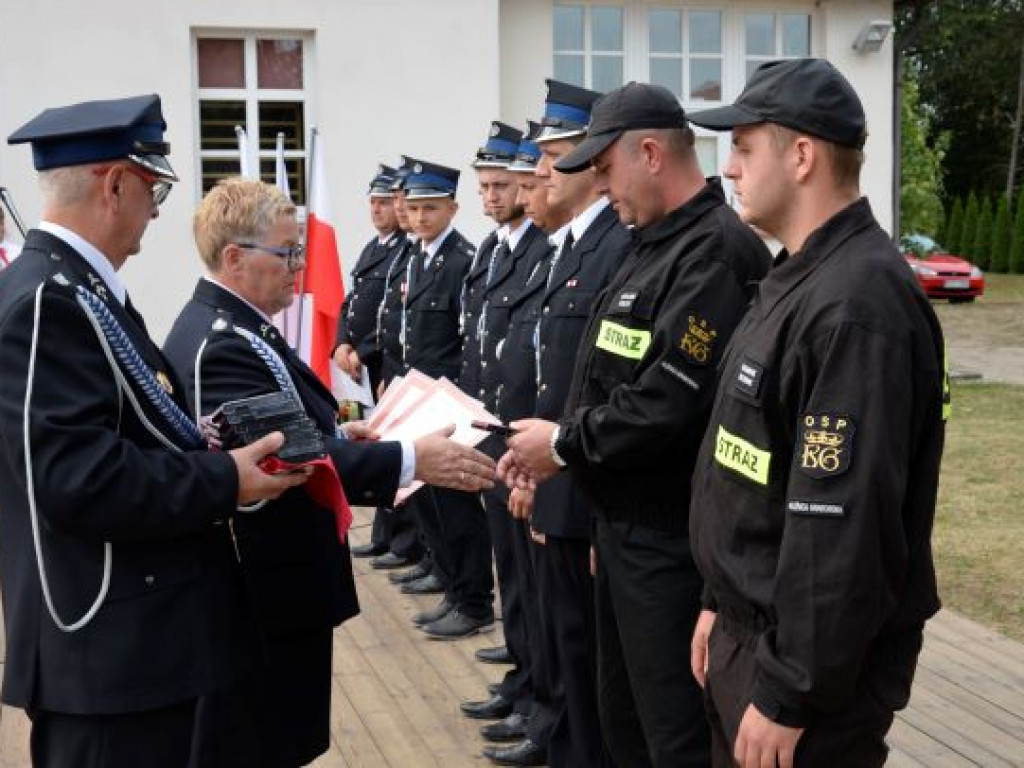
[[[3,700],[35,766],[188,759],[197,697],[244,672],[229,522],[305,475],[270,435],[207,453],[117,270],[174,171],[156,95],[47,110],[31,142],[43,221],[0,281]]]

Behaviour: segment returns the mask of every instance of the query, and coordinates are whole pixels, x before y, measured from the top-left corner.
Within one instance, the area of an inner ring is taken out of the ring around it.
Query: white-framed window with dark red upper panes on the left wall
[[[194,35],[202,193],[239,174],[234,127],[246,130],[260,177],[274,181],[278,133],[296,205],[305,205],[311,36],[217,30]]]

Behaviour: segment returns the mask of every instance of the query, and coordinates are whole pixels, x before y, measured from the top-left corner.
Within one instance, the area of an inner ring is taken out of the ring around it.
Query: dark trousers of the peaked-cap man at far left
[[[184,768],[196,699],[124,715],[32,713],[34,768]]]

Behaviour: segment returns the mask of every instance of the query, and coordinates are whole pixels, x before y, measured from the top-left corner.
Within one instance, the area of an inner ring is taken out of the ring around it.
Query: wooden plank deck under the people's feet
[[[369,536],[356,510],[355,543]],[[456,643],[427,640],[410,622],[435,598],[401,595],[356,562],[362,614],[335,639],[331,751],[316,768],[480,766],[480,725],[459,702],[485,696],[501,667],[473,660],[496,630]],[[2,659],[0,645],[0,659]],[[1024,645],[949,611],[929,623],[910,707],[897,718],[892,766],[1024,766]],[[25,715],[0,714],[0,768],[29,766]]]

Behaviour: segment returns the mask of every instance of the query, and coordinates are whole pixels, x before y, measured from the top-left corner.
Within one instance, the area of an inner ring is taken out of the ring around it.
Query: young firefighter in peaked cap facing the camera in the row
[[[402,348],[407,370],[458,381],[463,283],[475,249],[455,228],[459,171],[417,162],[406,179],[410,226],[420,251],[406,267]],[[414,617],[428,637],[451,640],[494,623],[490,535],[478,494],[427,486],[410,500],[445,582],[444,597]]]

